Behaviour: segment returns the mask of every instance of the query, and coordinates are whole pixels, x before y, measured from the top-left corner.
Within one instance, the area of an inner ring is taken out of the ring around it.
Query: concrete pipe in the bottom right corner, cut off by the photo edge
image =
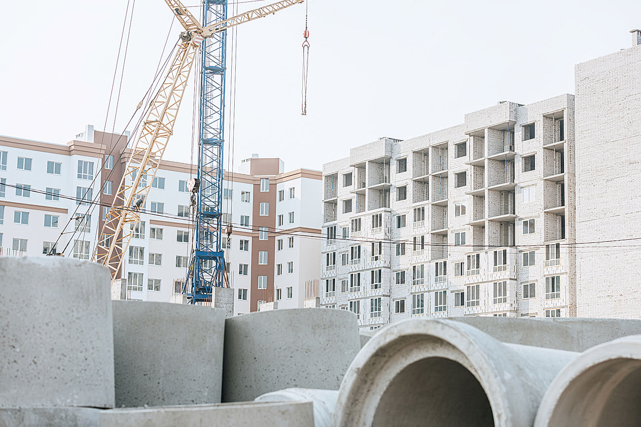
[[[545,392],[535,427],[641,425],[641,335],[590,348]]]

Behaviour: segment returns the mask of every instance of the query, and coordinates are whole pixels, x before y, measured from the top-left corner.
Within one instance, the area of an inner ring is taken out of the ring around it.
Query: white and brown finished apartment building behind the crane
[[[90,125],[67,145],[1,136],[4,254],[91,259],[124,174],[127,136]],[[237,314],[260,301],[303,307],[305,282],[319,278],[321,173],[283,166],[253,155],[239,173],[223,173],[223,222],[231,225],[223,250]],[[182,292],[194,237],[187,180],[196,170],[162,161],[122,262],[128,298],[170,302]]]

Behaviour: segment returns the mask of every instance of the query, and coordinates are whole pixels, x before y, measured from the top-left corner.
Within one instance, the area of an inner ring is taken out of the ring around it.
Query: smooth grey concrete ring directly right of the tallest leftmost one
[[[113,301],[117,407],[221,401],[224,311]]]

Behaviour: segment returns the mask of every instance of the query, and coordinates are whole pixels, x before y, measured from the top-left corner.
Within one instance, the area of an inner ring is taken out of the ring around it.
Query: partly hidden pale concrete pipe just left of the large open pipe
[[[311,401],[314,407],[314,427],[331,427],[337,390],[285,389],[258,396],[257,402]]]

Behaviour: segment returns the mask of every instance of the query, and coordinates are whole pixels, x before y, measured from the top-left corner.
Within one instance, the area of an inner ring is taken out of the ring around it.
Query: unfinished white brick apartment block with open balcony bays
[[[415,316],[576,316],[574,96],[323,167],[321,304],[362,328]]]

